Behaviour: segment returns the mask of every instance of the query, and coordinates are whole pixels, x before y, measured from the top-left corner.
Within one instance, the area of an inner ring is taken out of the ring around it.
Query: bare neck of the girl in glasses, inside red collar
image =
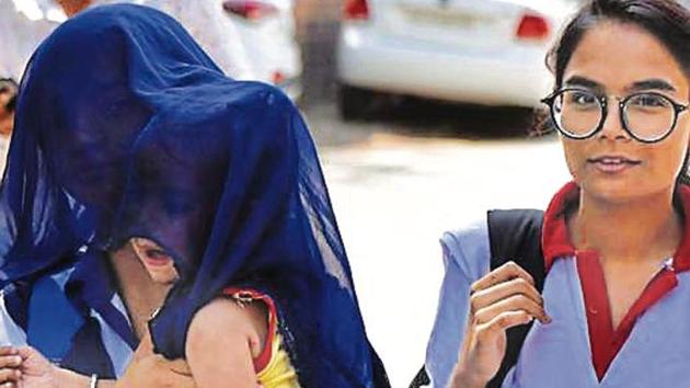
[[[595,249],[605,260],[658,261],[671,256],[682,239],[681,216],[671,193],[610,202],[580,192],[568,218],[577,249]]]

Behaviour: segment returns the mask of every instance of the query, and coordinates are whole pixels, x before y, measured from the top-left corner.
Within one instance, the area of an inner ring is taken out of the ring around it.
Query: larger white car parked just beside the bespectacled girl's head
[[[582,0],[346,0],[337,43],[344,118],[372,91],[538,106],[544,56]]]

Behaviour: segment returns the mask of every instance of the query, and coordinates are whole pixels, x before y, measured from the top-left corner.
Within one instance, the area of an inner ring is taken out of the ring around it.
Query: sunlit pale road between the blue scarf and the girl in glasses
[[[543,208],[568,180],[555,136],[524,111],[422,104],[343,123],[304,110],[369,336],[393,387],[424,362],[442,277],[438,238],[490,208]]]

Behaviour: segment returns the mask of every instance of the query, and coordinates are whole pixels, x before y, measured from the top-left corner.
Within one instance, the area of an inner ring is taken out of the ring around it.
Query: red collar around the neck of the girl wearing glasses
[[[690,186],[685,184],[678,187],[678,195],[683,213],[688,215],[690,208]],[[579,201],[579,186],[570,182],[563,186],[551,199],[544,213],[544,224],[541,235],[541,247],[544,253],[547,271],[557,258],[575,255],[577,249],[571,241],[565,224],[565,213],[570,206]],[[680,246],[674,254],[674,267],[676,271],[690,270],[690,216],[685,217],[683,237]]]

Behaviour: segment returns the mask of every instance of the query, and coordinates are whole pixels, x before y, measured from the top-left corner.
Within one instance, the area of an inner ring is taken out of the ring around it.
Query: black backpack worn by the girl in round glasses
[[[491,270],[514,261],[534,278],[537,289],[544,286],[544,260],[541,252],[541,225],[543,212],[536,209],[490,210],[487,213]],[[499,388],[508,370],[517,364],[520,349],[531,323],[510,328],[506,332],[506,354],[501,368],[486,388]],[[410,384],[419,388],[430,384],[424,366]]]

